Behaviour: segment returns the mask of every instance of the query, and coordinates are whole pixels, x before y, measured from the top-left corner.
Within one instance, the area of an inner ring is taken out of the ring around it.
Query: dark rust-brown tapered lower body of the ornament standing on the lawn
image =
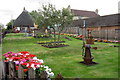
[[[83,60],[82,64],[85,64],[85,65],[93,65],[93,64],[97,64],[96,62],[93,62],[92,60],[94,59],[94,57],[92,57],[91,55],[91,51],[90,51],[90,48],[91,49],[97,49],[97,47],[90,47],[89,44],[86,44],[86,45],[83,45],[83,48],[85,48],[85,52],[84,52],[84,55],[83,55]]]

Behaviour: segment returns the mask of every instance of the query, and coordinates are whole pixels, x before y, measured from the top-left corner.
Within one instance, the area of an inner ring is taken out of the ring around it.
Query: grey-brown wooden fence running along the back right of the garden
[[[82,33],[83,32],[83,33]],[[86,34],[85,34],[86,32]],[[63,33],[86,35],[87,31],[79,27],[67,27],[63,30]],[[106,39],[106,40],[120,40],[120,29],[101,29],[101,30],[92,30],[92,35],[97,39]]]

